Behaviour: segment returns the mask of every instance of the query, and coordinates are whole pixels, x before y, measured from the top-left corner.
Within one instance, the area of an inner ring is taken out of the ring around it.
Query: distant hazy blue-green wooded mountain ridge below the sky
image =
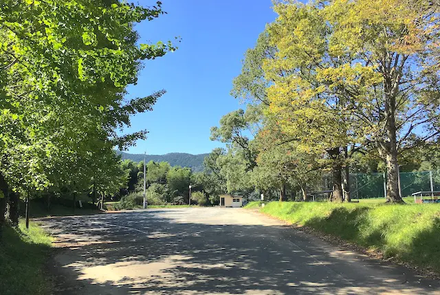
[[[122,154],[122,160],[130,159],[135,162],[144,160],[144,154],[129,154],[117,151]],[[186,154],[181,152],[172,152],[170,154],[147,154],[146,162],[151,160],[155,162],[168,162],[171,166],[190,167],[193,172],[203,171],[203,159],[208,154]]]

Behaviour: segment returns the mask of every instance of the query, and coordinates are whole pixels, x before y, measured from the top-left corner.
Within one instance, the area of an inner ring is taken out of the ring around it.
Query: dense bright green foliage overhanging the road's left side
[[[97,184],[98,174],[111,175],[109,161],[119,161],[114,145],[123,149],[145,137],[144,130],[120,137],[115,129],[129,125],[130,115],[151,110],[164,93],[124,101],[142,60],[174,49],[170,43],[137,44],[135,23],[162,13],[159,2],[143,8],[117,0],[3,1],[3,197],[51,186],[84,189],[93,179]],[[82,169],[84,163],[89,169]]]

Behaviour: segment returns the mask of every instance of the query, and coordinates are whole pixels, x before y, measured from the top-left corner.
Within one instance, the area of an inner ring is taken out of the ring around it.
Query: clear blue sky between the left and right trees
[[[137,85],[128,88],[127,97],[167,91],[152,112],[133,116],[131,128],[125,128],[149,131],[148,139],[137,141],[129,152],[210,152],[222,146],[210,141],[210,127],[241,107],[229,93],[243,55],[276,14],[270,0],[162,0],[162,8],[168,14],[137,25],[140,43],[175,36],[181,43],[177,51],[144,62]]]

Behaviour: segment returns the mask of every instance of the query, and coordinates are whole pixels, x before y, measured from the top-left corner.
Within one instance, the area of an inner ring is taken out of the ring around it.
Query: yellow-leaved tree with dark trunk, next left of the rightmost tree
[[[353,145],[351,126],[341,115],[346,102],[338,95],[322,95],[325,84],[316,76],[326,64],[339,64],[325,56],[329,30],[314,5],[289,2],[275,6],[278,19],[267,32],[276,47],[265,58],[270,107],[267,114],[283,132],[295,139],[300,152],[324,154],[332,168],[333,201],[342,202],[344,147]]]

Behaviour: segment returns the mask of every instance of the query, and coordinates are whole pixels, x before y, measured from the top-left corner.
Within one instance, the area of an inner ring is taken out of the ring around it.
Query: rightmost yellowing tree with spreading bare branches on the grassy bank
[[[388,202],[399,196],[399,150],[439,134],[439,12],[430,1],[332,1],[323,14],[329,54],[348,62],[322,69],[328,90],[347,100],[363,136],[386,163]]]

